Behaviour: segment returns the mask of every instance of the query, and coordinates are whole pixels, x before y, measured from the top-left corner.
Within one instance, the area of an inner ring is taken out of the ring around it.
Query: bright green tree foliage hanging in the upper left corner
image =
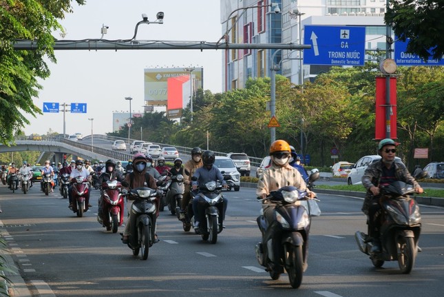
[[[78,4],[84,0],[76,0]],[[26,124],[27,114],[41,113],[32,102],[50,70],[45,57],[56,62],[52,32],[63,28],[56,19],[72,12],[72,0],[0,0],[0,141],[8,144]],[[16,39],[36,41],[36,50],[16,51]]]

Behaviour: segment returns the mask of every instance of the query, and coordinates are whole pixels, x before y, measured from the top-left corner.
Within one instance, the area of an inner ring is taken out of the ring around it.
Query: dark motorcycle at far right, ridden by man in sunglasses
[[[419,205],[409,196],[414,193],[414,188],[402,181],[380,187],[381,252],[372,252],[372,238],[367,234],[358,231],[355,239],[359,250],[370,256],[374,267],[382,267],[384,261],[398,261],[401,273],[409,274],[416,259],[421,233]]]

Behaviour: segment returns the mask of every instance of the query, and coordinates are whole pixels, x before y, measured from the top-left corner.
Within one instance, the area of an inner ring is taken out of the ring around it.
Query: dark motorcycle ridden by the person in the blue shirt
[[[228,178],[228,176],[224,177]],[[193,176],[192,181],[197,181],[197,178]],[[205,207],[205,219],[200,222],[198,229],[195,229],[196,234],[202,236],[202,240],[210,240],[211,243],[218,241],[218,234],[222,232],[222,214],[220,214],[218,206],[224,203],[224,197],[222,196],[222,184],[216,181],[209,181],[205,183],[204,187],[199,187],[198,192],[191,191],[191,197],[199,198],[199,204]],[[190,209],[191,203],[187,214],[192,214]],[[185,228],[185,224],[184,224]],[[186,230],[185,230],[186,231]]]

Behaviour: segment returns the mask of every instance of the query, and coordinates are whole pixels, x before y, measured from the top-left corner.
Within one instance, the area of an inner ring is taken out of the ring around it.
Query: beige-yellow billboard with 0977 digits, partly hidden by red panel
[[[194,90],[203,88],[203,72],[203,68],[195,68],[191,72]],[[145,68],[145,105],[167,106],[168,80],[179,76],[189,77],[189,74],[184,68]]]

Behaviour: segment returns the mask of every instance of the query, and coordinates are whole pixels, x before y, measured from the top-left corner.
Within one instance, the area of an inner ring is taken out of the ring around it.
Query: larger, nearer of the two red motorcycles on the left
[[[116,180],[102,183],[102,205],[98,209],[97,221],[106,227],[107,231],[112,230],[113,233],[117,232],[118,226],[121,226],[124,221],[125,202],[123,197],[125,195],[122,194],[122,186],[127,186],[125,183],[125,181],[120,183]]]

